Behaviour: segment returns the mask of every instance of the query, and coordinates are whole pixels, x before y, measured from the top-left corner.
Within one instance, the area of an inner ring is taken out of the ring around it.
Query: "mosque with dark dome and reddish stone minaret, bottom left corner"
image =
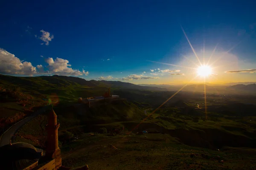
[[[17,142],[0,147],[0,170],[70,170],[61,166],[61,150],[58,147],[57,115],[53,109],[49,112],[46,153],[32,144]],[[79,167],[88,170],[88,166]]]

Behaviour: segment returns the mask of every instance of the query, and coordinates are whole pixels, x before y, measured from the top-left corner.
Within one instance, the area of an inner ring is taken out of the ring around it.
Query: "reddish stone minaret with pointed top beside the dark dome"
[[[61,167],[61,150],[58,147],[58,128],[57,115],[53,109],[49,112],[47,130],[46,154],[47,158],[55,159],[55,169]]]

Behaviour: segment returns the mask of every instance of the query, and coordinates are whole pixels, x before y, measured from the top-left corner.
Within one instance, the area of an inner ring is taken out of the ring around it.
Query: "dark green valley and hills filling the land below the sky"
[[[256,167],[253,95],[207,93],[205,103],[202,92],[181,91],[155,111],[175,91],[72,77],[11,78],[0,81],[3,130],[52,104],[61,125],[64,166],[88,164],[93,170]],[[77,97],[100,96],[108,87],[122,100],[102,101],[91,108],[77,102]],[[44,149],[46,124],[47,111],[23,125],[13,142]]]

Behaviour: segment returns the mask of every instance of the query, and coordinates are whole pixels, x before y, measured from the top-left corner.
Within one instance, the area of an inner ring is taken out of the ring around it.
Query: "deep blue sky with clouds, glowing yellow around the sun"
[[[198,60],[182,26],[201,61],[216,44],[211,62],[224,56],[208,82],[256,81],[253,1],[36,2],[3,0],[0,6],[1,74],[185,83],[198,67],[190,61]]]

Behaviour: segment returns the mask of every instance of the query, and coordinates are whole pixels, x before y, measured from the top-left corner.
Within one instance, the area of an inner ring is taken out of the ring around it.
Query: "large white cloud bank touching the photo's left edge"
[[[0,73],[33,75],[36,73],[36,68],[31,62],[20,61],[14,54],[0,48]]]

